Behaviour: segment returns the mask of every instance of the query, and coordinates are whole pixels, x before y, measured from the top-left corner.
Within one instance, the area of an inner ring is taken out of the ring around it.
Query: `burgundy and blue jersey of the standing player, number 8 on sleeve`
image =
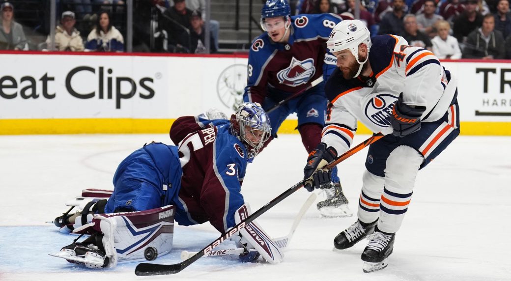
[[[287,43],[273,42],[267,32],[255,39],[248,56],[244,100],[263,104],[268,86],[293,93],[323,73],[326,81],[336,63],[326,42],[341,20],[335,14],[296,15],[291,17]]]

